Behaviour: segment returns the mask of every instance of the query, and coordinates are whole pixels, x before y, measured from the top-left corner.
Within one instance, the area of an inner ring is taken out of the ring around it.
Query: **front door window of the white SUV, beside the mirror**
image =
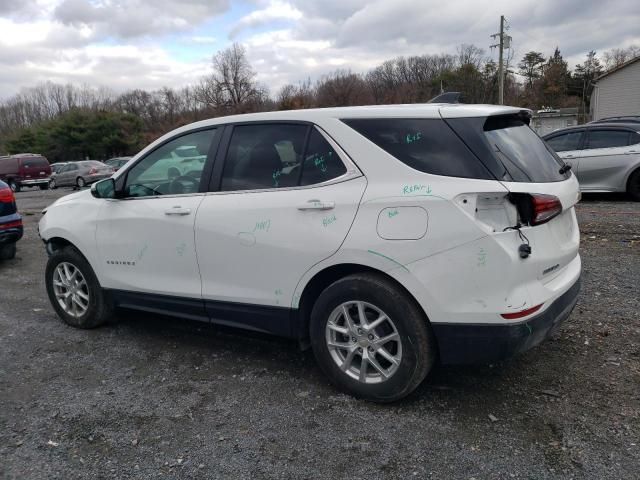
[[[215,132],[182,135],[149,153],[127,172],[125,196],[196,193]]]

